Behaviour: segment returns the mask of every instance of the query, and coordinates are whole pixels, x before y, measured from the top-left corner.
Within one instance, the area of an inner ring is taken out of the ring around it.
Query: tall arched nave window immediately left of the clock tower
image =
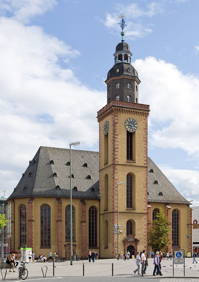
[[[95,248],[98,244],[97,233],[97,209],[95,207],[89,208],[89,248]]]

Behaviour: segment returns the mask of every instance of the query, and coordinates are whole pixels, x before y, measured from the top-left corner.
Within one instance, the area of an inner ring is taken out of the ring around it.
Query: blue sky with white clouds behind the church
[[[199,205],[198,10],[195,0],[0,0],[0,194],[40,146],[99,150],[124,14],[139,102],[151,110],[148,156]]]

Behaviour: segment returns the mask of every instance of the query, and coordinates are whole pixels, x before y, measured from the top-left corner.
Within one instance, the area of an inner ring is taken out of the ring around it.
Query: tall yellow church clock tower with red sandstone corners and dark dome
[[[149,105],[138,103],[138,73],[132,53],[122,41],[116,46],[114,65],[107,75],[107,105],[98,111],[100,255],[135,255],[147,248],[147,118]],[[123,185],[118,183],[124,182]],[[118,190],[118,195],[117,195]],[[117,202],[118,197],[118,202]],[[118,208],[117,208],[118,206]]]

